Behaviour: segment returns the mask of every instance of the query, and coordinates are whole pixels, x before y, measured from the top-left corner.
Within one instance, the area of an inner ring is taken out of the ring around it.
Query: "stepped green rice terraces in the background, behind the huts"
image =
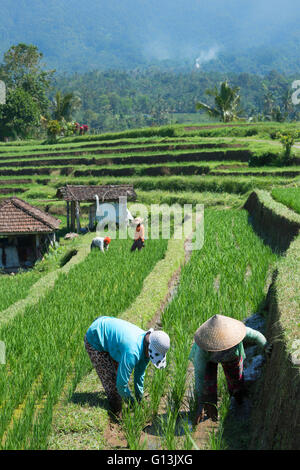
[[[144,131],[145,132],[145,131]],[[56,145],[0,146],[0,194],[19,195],[55,214],[56,189],[70,184],[133,183],[137,191],[225,192],[246,194],[253,188],[285,186],[299,179],[300,166],[249,168],[251,156],[280,152],[274,141],[204,138],[183,132],[171,137],[90,136]],[[218,131],[220,132],[220,130]],[[162,132],[163,133],[163,132]],[[225,133],[226,134],[226,133]],[[147,135],[147,132],[145,132]],[[111,140],[109,140],[109,137]],[[61,214],[61,211],[59,211]]]

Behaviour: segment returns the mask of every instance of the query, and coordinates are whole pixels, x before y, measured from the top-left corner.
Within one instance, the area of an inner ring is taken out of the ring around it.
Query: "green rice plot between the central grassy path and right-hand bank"
[[[149,397],[142,417],[140,409],[131,416],[131,428],[135,430],[129,432],[128,428],[131,448],[140,442],[141,429],[149,417],[153,419],[159,413],[161,400],[166,412],[163,448],[178,448],[180,442],[174,433],[180,413],[188,406],[186,373],[193,334],[216,313],[244,320],[259,312],[267,276],[276,259],[248,225],[246,211],[206,211],[204,247],[193,252],[183,269],[178,293],[162,316],[162,327],[171,337],[167,374],[153,376],[148,382]],[[228,413],[229,400],[226,396],[222,400],[227,403]],[[226,413],[222,413],[224,419]]]

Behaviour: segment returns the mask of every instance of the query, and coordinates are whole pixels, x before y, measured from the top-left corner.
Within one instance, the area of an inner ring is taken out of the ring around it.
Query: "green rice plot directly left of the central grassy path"
[[[149,249],[141,253],[130,253],[128,240],[112,244],[109,256],[91,253],[68,276],[60,274],[36,306],[1,328],[7,344],[7,364],[0,370],[1,448],[45,448],[53,405],[64,386],[72,391],[90,370],[82,347],[89,324],[126,309],[164,255],[166,242],[147,243]],[[124,278],[132,281],[130,289]]]

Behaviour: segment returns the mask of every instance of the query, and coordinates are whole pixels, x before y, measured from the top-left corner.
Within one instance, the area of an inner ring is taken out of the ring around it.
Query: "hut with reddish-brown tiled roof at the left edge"
[[[17,197],[0,201],[0,269],[33,266],[55,242],[60,220]]]

